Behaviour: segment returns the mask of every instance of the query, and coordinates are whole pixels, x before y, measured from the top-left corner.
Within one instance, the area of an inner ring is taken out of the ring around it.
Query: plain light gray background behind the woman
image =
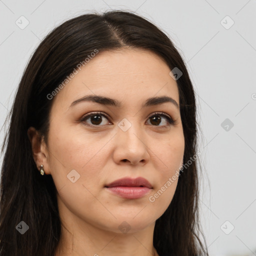
[[[71,17],[111,8],[149,18],[187,64],[202,130],[200,216],[210,255],[256,255],[256,0],[0,0],[0,125],[40,40]]]

